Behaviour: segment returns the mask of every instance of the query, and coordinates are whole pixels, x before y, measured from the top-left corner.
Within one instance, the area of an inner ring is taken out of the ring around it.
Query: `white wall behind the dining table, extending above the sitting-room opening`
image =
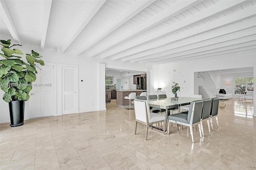
[[[153,69],[151,69],[150,71],[153,72],[153,74],[151,75],[154,76],[154,81],[152,81],[151,79],[150,84],[154,84],[154,91],[158,87],[162,87],[162,90],[166,91],[166,95],[168,97],[172,97],[174,95],[171,93],[171,86],[173,85],[172,81],[175,81],[176,83],[179,83],[181,87],[183,87],[183,89],[181,89],[181,91],[178,92],[177,95],[188,97],[190,94],[194,93],[194,72],[254,67],[255,77],[255,60],[256,54],[254,51],[235,55],[223,55],[220,57],[211,58],[206,57],[188,61],[179,61],[175,63],[153,65]],[[174,72],[174,70],[176,71]],[[184,83],[184,81],[186,81],[186,83]],[[254,87],[255,86],[256,85],[254,83]],[[150,93],[152,94],[153,92]],[[254,101],[256,101],[256,95],[254,95]],[[256,109],[254,109],[254,114],[255,112]]]

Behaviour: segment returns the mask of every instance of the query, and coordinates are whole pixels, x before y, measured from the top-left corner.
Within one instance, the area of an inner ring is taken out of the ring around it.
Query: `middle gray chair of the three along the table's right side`
[[[209,124],[211,103],[212,103],[212,99],[204,99],[203,100],[203,109],[202,109],[202,116],[201,116],[201,121],[200,121],[201,129],[202,129],[202,136],[204,136],[203,121],[207,120],[208,130],[209,130],[209,132],[211,132],[210,124]]]

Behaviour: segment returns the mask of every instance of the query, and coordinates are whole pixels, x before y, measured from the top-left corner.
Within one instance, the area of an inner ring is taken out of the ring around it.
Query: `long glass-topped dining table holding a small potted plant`
[[[151,107],[158,107],[160,109],[166,109],[166,129],[168,124],[168,109],[178,108],[179,113],[181,112],[181,107],[184,105],[190,105],[192,101],[202,100],[198,98],[191,97],[179,97],[178,100],[171,100],[170,97],[165,99],[150,99],[148,101],[148,105]]]

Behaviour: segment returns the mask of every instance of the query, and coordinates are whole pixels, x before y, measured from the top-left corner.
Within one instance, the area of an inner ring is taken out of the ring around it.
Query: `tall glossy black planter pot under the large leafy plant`
[[[18,127],[24,124],[24,109],[25,109],[24,100],[9,102],[11,127]]]

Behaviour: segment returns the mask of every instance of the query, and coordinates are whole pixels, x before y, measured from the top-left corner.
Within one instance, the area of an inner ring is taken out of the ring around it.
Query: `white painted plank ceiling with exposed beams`
[[[0,0],[0,31],[131,63],[159,64],[256,49],[256,0]]]

